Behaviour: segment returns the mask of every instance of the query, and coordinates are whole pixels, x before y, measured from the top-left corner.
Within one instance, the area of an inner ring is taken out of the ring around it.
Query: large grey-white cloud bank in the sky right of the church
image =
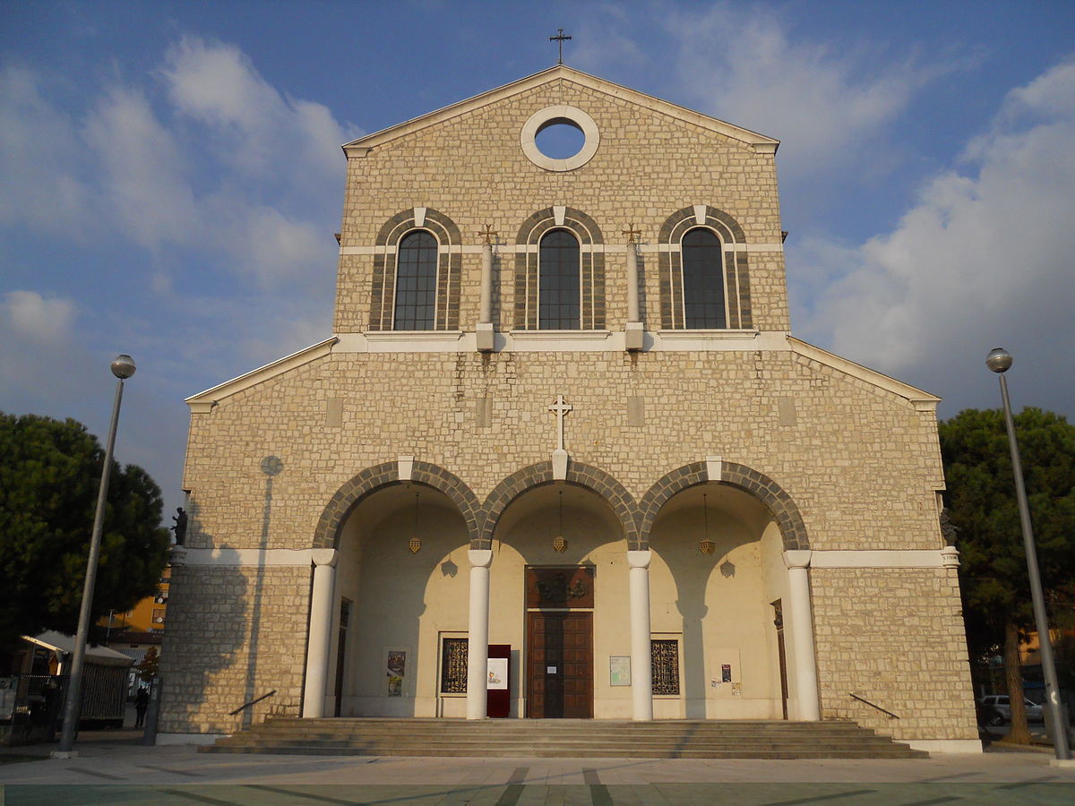
[[[952,384],[948,362],[980,370],[999,343],[1070,365],[1072,142],[1067,62],[1010,91],[992,128],[922,187],[891,232],[854,248],[815,243],[807,262],[827,249],[840,276],[817,294],[804,333],[942,392]]]

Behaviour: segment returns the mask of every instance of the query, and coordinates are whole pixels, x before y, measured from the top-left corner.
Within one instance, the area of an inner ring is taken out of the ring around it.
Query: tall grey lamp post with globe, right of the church
[[[1052,660],[1052,642],[1049,639],[1049,620],[1045,614],[1045,596],[1042,593],[1042,577],[1037,571],[1037,549],[1034,532],[1030,524],[1030,507],[1027,505],[1027,490],[1022,483],[1022,465],[1019,462],[1019,443],[1015,436],[1015,421],[1012,419],[1012,403],[1008,401],[1007,382],[1004,373],[1012,366],[1012,354],[995,347],[986,358],[986,366],[995,372],[1001,382],[1001,400],[1004,402],[1004,422],[1007,426],[1008,445],[1012,448],[1012,470],[1015,473],[1015,495],[1019,503],[1019,521],[1022,524],[1022,547],[1027,552],[1027,570],[1030,573],[1030,595],[1034,604],[1034,625],[1042,652],[1042,673],[1045,676],[1045,696],[1049,705],[1047,719],[1052,729],[1052,744],[1058,761],[1071,761],[1067,744],[1067,725],[1064,724],[1060,708],[1060,687],[1057,685],[1057,666]],[[1012,692],[1019,696],[1021,692]]]

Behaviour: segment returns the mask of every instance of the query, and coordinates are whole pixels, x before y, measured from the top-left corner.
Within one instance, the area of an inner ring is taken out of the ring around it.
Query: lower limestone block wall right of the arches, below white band
[[[956,568],[814,568],[811,580],[825,718],[898,739],[978,737]]]

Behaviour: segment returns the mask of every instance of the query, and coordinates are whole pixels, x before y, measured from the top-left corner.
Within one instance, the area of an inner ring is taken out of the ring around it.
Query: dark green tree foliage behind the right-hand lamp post
[[[1075,576],[1075,426],[1038,408],[1023,409],[1015,422],[1042,585],[1047,600],[1065,601]],[[941,423],[940,433],[945,500],[960,530],[968,633],[978,654],[1003,644],[1007,620],[1033,629],[1004,414],[960,412]]]

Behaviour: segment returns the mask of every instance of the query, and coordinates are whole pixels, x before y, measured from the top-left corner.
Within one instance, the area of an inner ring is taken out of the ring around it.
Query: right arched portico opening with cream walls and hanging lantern
[[[779,528],[755,496],[717,483],[661,507],[649,535],[654,717],[786,717],[774,623],[787,596]]]

